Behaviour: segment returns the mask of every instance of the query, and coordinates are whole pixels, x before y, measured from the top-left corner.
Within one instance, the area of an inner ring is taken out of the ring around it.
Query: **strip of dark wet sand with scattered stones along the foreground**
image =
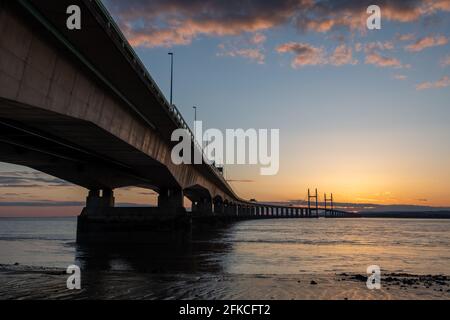
[[[0,299],[450,299],[450,277],[386,274],[369,290],[359,274],[236,275],[128,271],[82,273],[66,288],[62,269],[0,266]]]

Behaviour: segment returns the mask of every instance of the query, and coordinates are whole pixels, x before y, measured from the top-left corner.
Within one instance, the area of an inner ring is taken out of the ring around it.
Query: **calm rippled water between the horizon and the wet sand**
[[[75,218],[1,218],[0,264],[183,273],[384,271],[450,275],[450,220],[279,219],[194,234],[189,244],[82,247]]]

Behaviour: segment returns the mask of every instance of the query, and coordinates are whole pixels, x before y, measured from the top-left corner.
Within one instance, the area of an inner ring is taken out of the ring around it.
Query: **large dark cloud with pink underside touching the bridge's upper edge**
[[[133,46],[190,44],[206,36],[237,36],[287,23],[303,1],[106,1]]]

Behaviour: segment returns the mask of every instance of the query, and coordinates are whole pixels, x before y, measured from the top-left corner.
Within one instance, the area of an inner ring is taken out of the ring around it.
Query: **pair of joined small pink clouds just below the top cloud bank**
[[[314,47],[311,44],[303,42],[284,43],[279,45],[276,51],[278,53],[293,53],[294,58],[291,62],[293,68],[326,64],[342,66],[357,63],[357,60],[353,58],[352,48],[345,44],[336,47],[330,55],[327,55],[323,47]]]

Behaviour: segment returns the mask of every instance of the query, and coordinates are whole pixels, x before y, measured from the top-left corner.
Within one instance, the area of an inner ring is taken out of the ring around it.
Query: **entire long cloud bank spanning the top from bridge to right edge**
[[[412,22],[449,11],[448,0],[379,0],[383,18]],[[365,30],[369,0],[106,0],[133,46],[187,45],[200,36],[237,36],[289,25],[301,32]]]

